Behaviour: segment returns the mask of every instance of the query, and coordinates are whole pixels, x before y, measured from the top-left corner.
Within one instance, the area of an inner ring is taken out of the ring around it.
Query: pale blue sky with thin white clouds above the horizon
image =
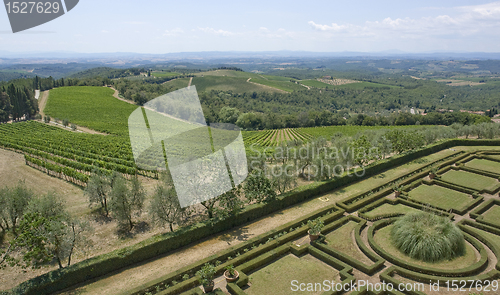
[[[500,52],[500,1],[80,0],[0,52]]]

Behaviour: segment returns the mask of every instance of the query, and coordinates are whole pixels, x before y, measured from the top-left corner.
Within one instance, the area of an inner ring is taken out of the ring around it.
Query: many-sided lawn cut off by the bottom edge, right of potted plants
[[[290,294],[291,282],[323,283],[324,280],[339,282],[339,272],[326,263],[307,254],[302,257],[289,254],[249,275],[248,295]],[[293,292],[297,294],[321,294],[318,292]]]

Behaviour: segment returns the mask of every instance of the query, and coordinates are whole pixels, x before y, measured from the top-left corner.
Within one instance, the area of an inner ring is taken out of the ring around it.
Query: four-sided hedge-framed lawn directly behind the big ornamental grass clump
[[[472,197],[468,194],[438,185],[422,184],[411,190],[408,195],[411,200],[430,204],[444,210],[460,210],[472,201]]]

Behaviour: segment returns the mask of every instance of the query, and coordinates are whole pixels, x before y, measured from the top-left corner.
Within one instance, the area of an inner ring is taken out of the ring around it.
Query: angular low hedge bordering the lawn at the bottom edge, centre
[[[354,276],[352,275],[353,268],[350,267],[349,265],[343,263],[342,261],[339,261],[335,257],[332,257],[314,247],[311,247],[309,245],[304,245],[304,246],[296,246],[296,245],[283,245],[276,250],[268,252],[264,255],[259,256],[256,259],[253,259],[240,267],[237,268],[238,272],[240,273],[240,278],[238,281],[235,283],[229,283],[227,284],[227,289],[230,291],[231,294],[235,295],[246,295],[246,293],[241,289],[243,286],[248,284],[248,276],[246,274],[252,272],[255,269],[258,269],[259,267],[262,267],[268,263],[272,263],[273,261],[276,261],[280,259],[282,256],[286,254],[293,254],[295,256],[301,256],[304,254],[310,254],[317,259],[323,261],[324,263],[330,265],[331,267],[337,269],[340,274],[340,279],[342,280],[342,285],[344,284],[350,284],[352,281],[355,280]],[[244,274],[244,277],[241,277],[241,274]],[[330,291],[330,292],[324,292],[324,295],[337,295],[341,294],[342,292],[337,292],[337,291]]]

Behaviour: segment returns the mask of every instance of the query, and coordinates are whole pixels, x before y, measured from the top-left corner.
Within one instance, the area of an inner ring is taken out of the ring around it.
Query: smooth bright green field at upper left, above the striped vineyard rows
[[[105,87],[74,86],[50,91],[45,114],[97,131],[128,135],[128,117],[137,106],[113,97]]]

